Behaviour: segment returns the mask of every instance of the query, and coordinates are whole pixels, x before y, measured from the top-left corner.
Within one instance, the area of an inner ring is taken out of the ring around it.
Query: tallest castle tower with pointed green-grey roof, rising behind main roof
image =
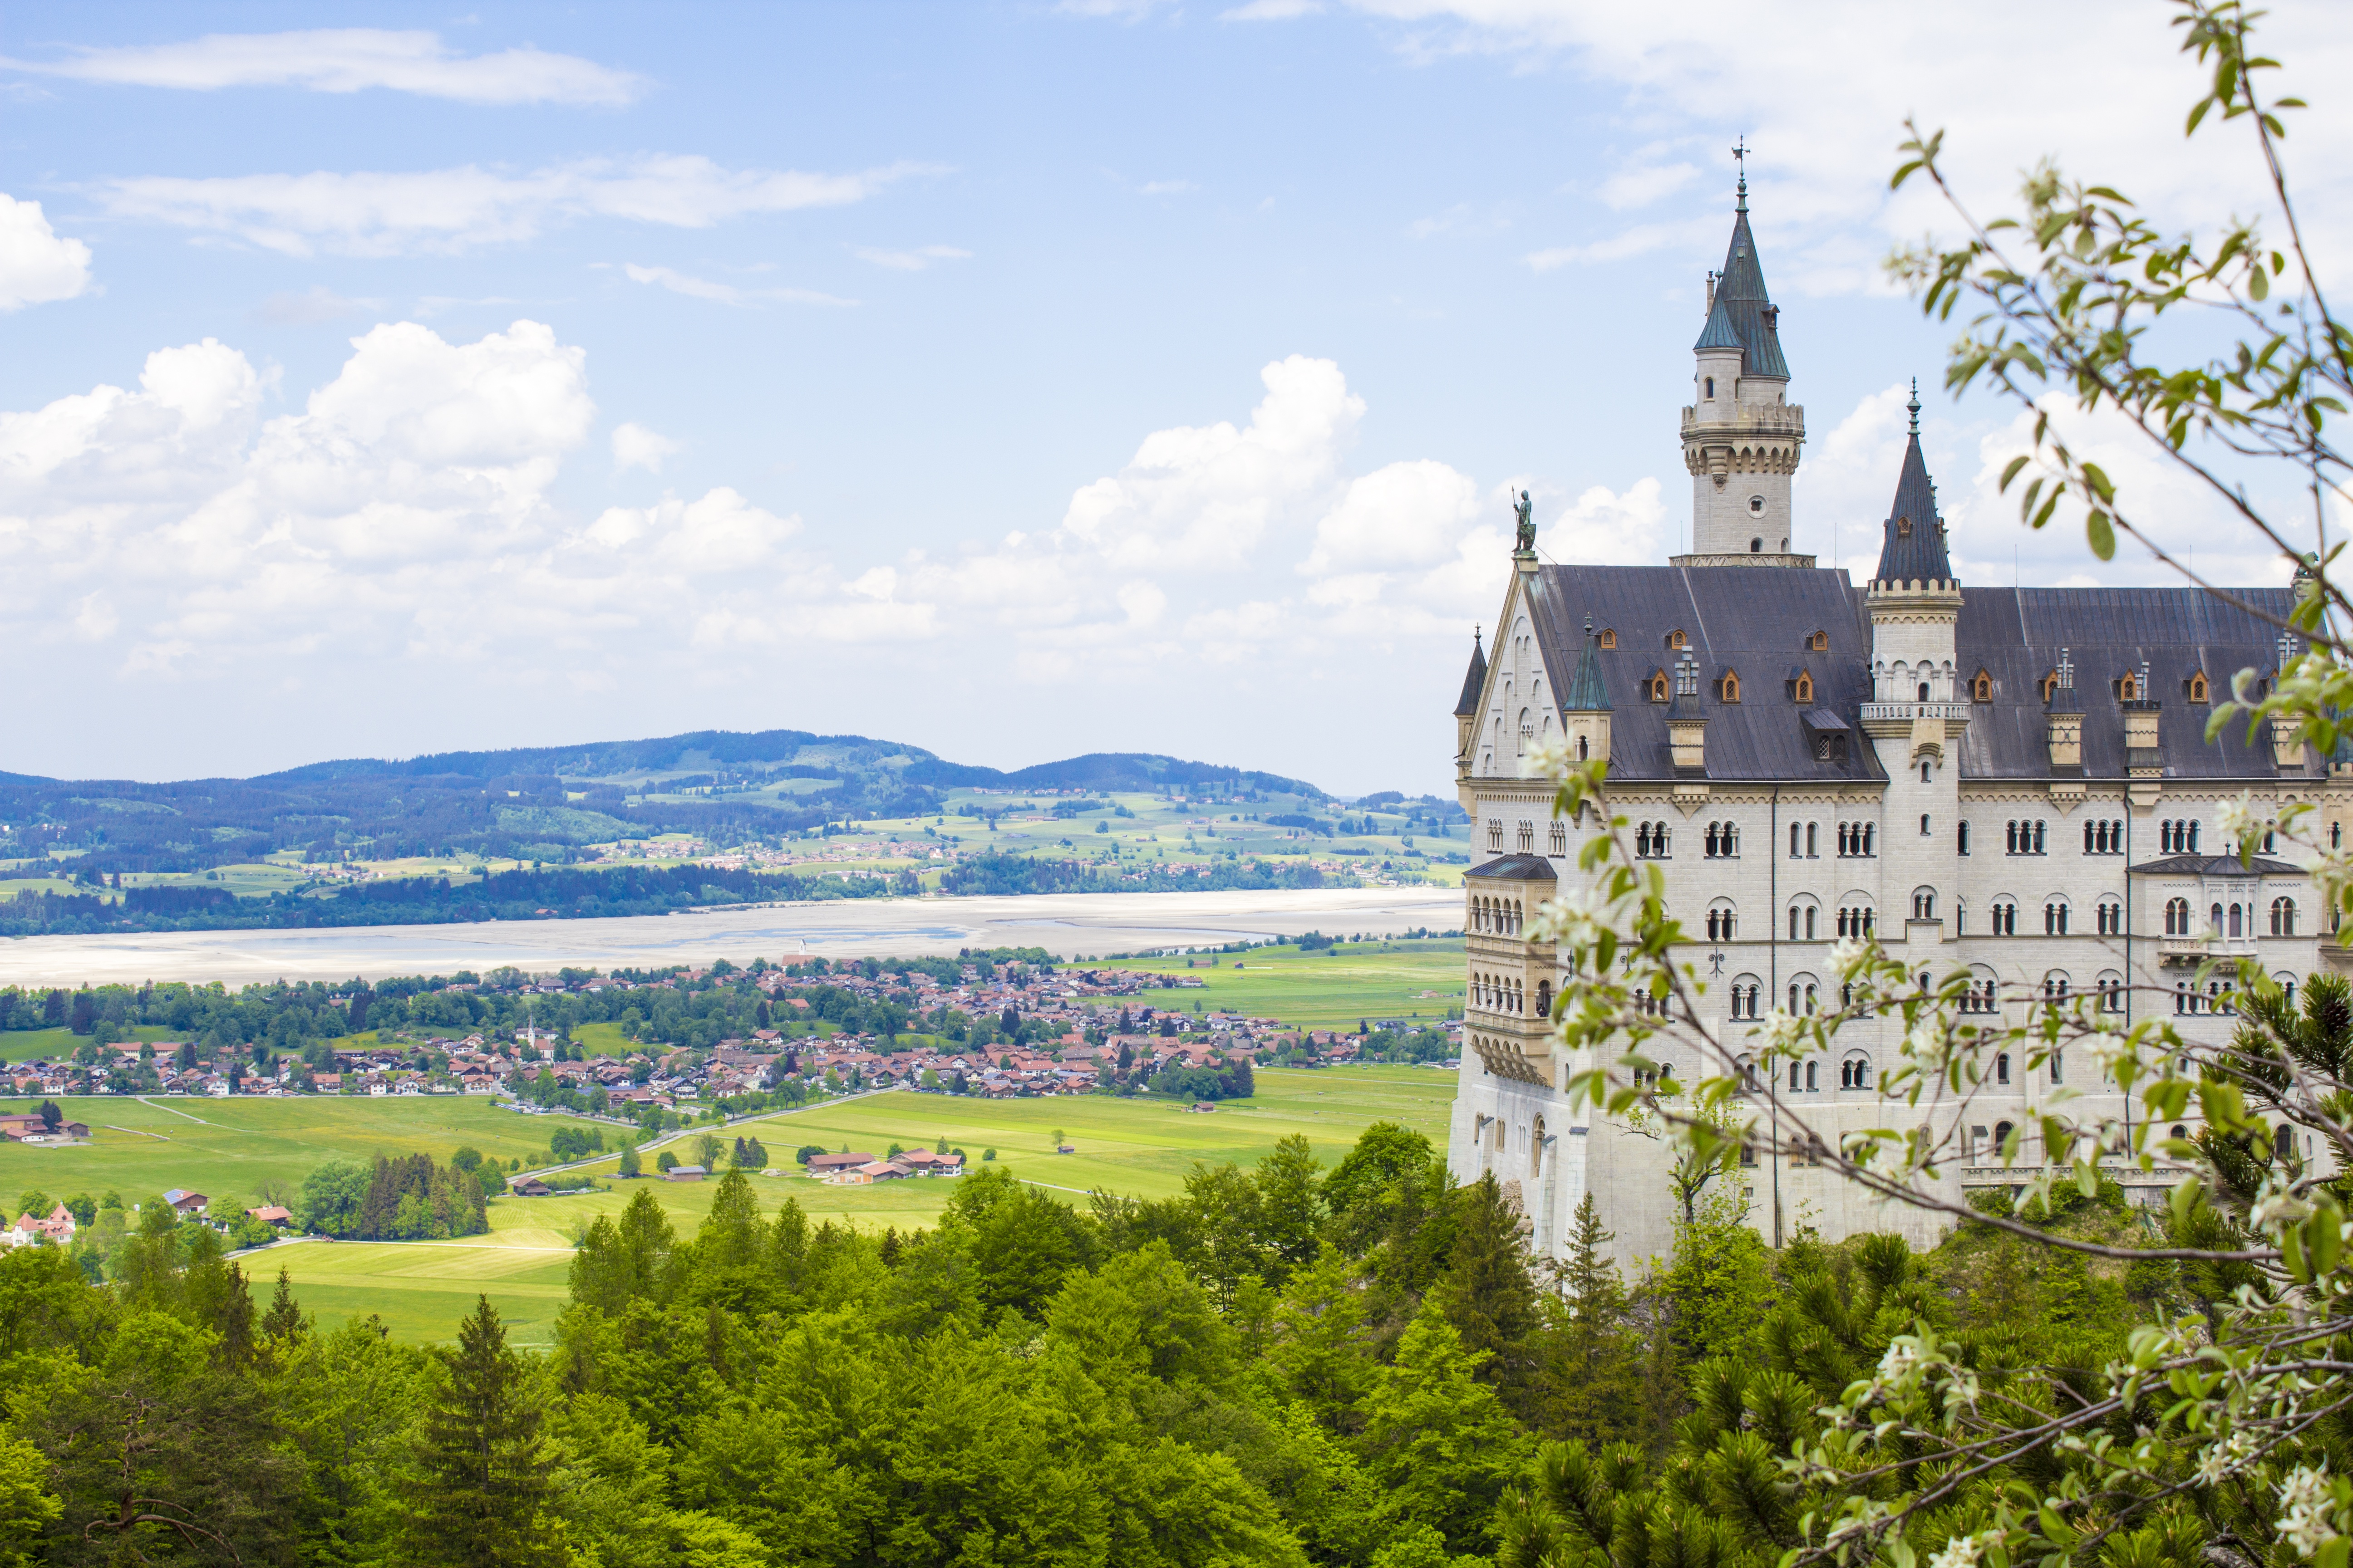
[[[1746,148],[1734,148],[1746,158]],[[1692,470],[1694,567],[1812,567],[1791,552],[1791,477],[1805,447],[1805,409],[1788,402],[1781,310],[1748,230],[1741,167],[1725,270],[1708,277],[1708,320],[1692,343],[1699,367],[1682,409],[1682,465]]]

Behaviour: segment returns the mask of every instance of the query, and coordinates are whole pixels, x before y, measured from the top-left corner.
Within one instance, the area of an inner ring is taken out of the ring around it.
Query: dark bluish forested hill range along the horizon
[[[1247,769],[1096,752],[1012,773],[920,745],[800,729],[694,731],[656,741],[318,762],[261,778],[184,783],[0,773],[0,823],[16,858],[82,849],[96,884],[120,872],[205,872],[304,851],[315,860],[489,856],[562,865],[584,844],[692,832],[741,844],[826,823],[908,818],[944,790],[1160,790],[1304,795]]]

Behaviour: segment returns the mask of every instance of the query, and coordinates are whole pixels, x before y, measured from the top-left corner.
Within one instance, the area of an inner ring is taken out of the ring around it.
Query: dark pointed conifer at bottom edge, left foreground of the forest
[[[553,1458],[522,1359],[489,1298],[459,1324],[456,1349],[435,1349],[438,1387],[416,1448],[409,1561],[433,1568],[555,1568],[562,1537],[546,1516]]]

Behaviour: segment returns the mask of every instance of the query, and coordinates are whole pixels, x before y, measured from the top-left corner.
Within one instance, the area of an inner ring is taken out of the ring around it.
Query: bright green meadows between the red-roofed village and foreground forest
[[[762,1117],[727,1128],[758,1133],[779,1168],[791,1168],[793,1150],[845,1143],[882,1154],[892,1143],[915,1147],[948,1138],[972,1164],[995,1150],[995,1164],[1045,1187],[1064,1190],[1073,1204],[1089,1187],[1139,1197],[1184,1190],[1195,1161],[1257,1164],[1278,1138],[1306,1133],[1325,1164],[1339,1159],[1372,1121],[1402,1121],[1433,1143],[1445,1143],[1454,1074],[1426,1067],[1334,1067],[1322,1072],[1266,1070],[1252,1100],[1231,1100],[1200,1117],[1169,1100],[965,1100],[951,1095],[885,1093],[861,1100],[814,1105],[802,1112]],[[104,1107],[96,1110],[96,1107]],[[322,1117],[301,1117],[306,1110]],[[139,1117],[134,1119],[136,1112]],[[242,1112],[242,1114],[240,1114]],[[299,1180],[301,1171],[332,1154],[365,1157],[374,1150],[431,1150],[447,1154],[473,1143],[485,1154],[520,1152],[520,1138],[546,1147],[548,1117],[515,1117],[482,1103],[445,1100],[240,1100],[191,1103],[188,1114],[226,1124],[181,1124],[136,1100],[73,1100],[73,1114],[94,1126],[85,1150],[28,1150],[0,1145],[0,1190],[40,1185],[52,1194],[115,1187],[132,1199],[141,1192],[193,1185],[202,1192],[245,1192],[264,1173]],[[172,1143],[108,1133],[101,1121],[162,1131]],[[1054,1133],[1075,1147],[1054,1154]],[[499,1138],[506,1135],[506,1143]],[[68,1164],[71,1161],[71,1164]],[[609,1173],[612,1166],[600,1166]],[[12,1185],[14,1182],[14,1185]],[[209,1185],[207,1185],[209,1182]],[[755,1178],[760,1208],[774,1213],[791,1194],[812,1220],[847,1220],[880,1229],[934,1225],[951,1180],[918,1178],[880,1187],[828,1187],[805,1175]],[[405,1340],[447,1338],[456,1319],[487,1293],[506,1319],[515,1345],[546,1345],[565,1305],[576,1225],[614,1213],[631,1192],[647,1190],[692,1234],[711,1208],[713,1185],[616,1182],[614,1192],[581,1197],[513,1199],[492,1204],[487,1237],[442,1244],[294,1241],[245,1258],[256,1288],[285,1267],[301,1305],[325,1324],[379,1314]]]

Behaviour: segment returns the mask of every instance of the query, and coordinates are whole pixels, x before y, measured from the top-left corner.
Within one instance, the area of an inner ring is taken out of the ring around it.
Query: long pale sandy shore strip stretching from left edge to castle
[[[1299,893],[1054,893],[1045,898],[859,898],[708,914],[532,919],[334,931],[146,931],[0,943],[0,985],[129,980],[381,980],[515,964],[529,971],[659,969],[755,957],[920,957],[958,947],[1045,947],[1056,957],[1193,947],[1242,938],[1393,933],[1461,924],[1449,889]]]

